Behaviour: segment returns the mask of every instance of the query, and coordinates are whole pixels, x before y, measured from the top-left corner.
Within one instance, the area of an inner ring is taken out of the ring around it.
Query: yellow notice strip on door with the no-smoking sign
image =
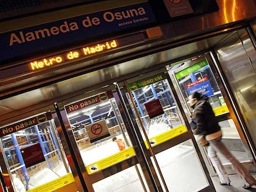
[[[105,159],[101,159],[100,161],[87,165],[87,173],[90,175],[94,172],[97,172],[101,169],[105,169],[106,167],[114,165],[117,162],[123,161],[124,159],[128,159],[132,156],[135,156],[135,151],[133,147],[124,149],[112,156],[106,157]]]

